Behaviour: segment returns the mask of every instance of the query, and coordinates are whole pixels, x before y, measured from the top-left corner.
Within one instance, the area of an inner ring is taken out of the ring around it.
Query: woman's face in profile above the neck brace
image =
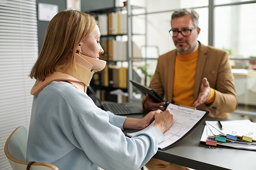
[[[80,42],[77,51],[81,50],[81,54],[99,59],[99,55],[104,53],[104,50],[99,43],[100,37],[99,27],[95,26],[91,34]]]

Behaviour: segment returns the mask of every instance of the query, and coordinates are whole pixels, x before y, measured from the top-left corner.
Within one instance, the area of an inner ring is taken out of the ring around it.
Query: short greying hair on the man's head
[[[172,19],[176,17],[183,17],[185,15],[189,15],[192,18],[193,24],[195,27],[198,27],[198,18],[199,15],[196,11],[189,8],[179,9],[177,11],[174,11],[172,14]]]

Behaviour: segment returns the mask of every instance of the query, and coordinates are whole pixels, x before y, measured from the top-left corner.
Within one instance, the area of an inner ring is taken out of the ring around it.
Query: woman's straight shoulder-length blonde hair
[[[64,10],[49,22],[44,43],[29,77],[44,79],[57,65],[75,68],[75,53],[79,43],[90,35],[97,21],[76,10]]]

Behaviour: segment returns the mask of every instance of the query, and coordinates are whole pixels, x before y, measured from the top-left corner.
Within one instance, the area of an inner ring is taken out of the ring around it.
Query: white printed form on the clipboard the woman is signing
[[[207,113],[206,111],[195,110],[173,104],[169,104],[168,108],[170,108],[171,112],[174,114],[174,122],[172,126],[169,128],[169,130],[163,133],[164,140],[163,142],[158,144],[158,147],[160,149],[165,148],[171,144],[174,144],[183,136],[185,136],[186,133],[188,133],[189,130],[191,130]],[[154,121],[145,129],[134,133],[127,133],[127,135],[134,136],[137,133],[147,130],[149,127],[153,125]]]

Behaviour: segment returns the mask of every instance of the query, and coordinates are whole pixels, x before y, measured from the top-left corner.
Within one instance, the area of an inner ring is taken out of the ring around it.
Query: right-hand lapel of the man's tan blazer
[[[200,93],[200,87],[203,79],[202,76],[203,76],[206,59],[207,59],[206,46],[200,42],[199,52],[198,52],[198,61],[197,61],[196,72],[195,72],[195,85],[194,85],[195,101],[198,99],[198,94]]]

